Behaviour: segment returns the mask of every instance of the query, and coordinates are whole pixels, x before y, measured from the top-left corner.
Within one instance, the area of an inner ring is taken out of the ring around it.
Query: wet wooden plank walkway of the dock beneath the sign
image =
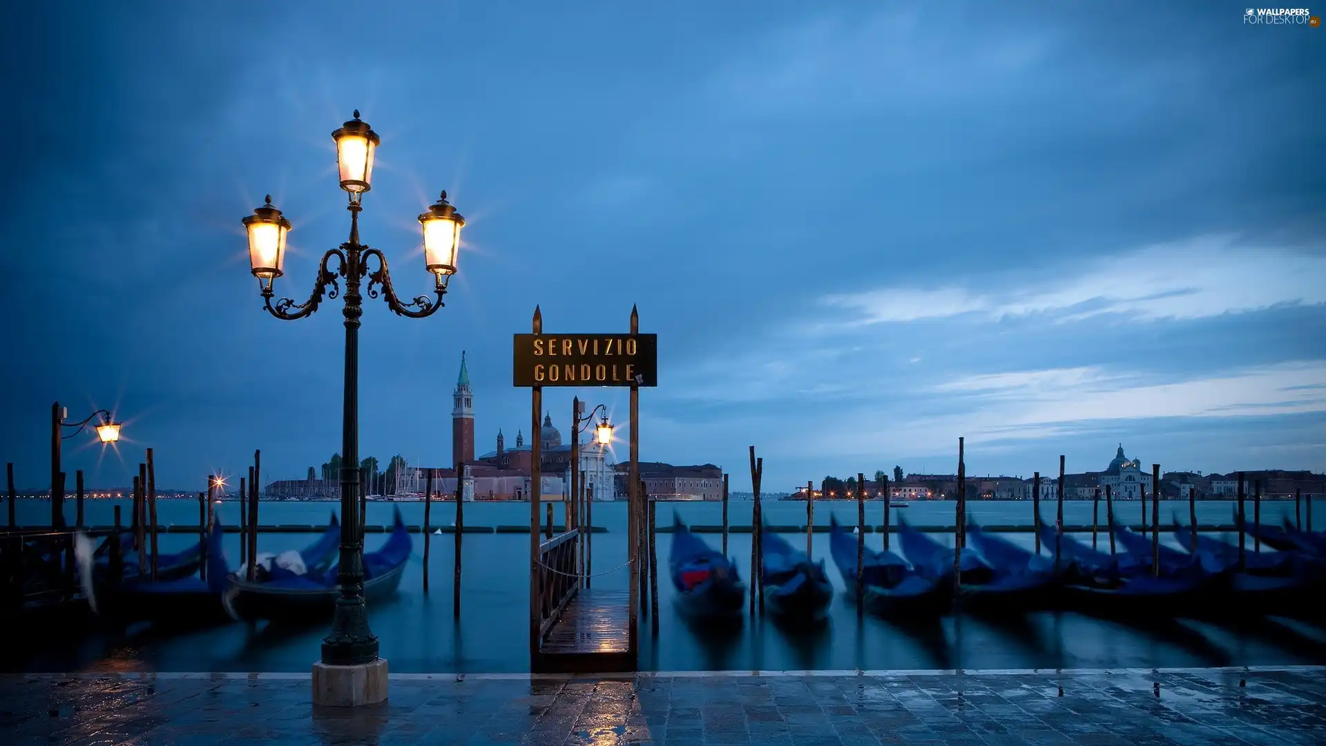
[[[536,673],[629,673],[635,670],[630,645],[627,591],[582,589],[566,604],[538,648]]]

